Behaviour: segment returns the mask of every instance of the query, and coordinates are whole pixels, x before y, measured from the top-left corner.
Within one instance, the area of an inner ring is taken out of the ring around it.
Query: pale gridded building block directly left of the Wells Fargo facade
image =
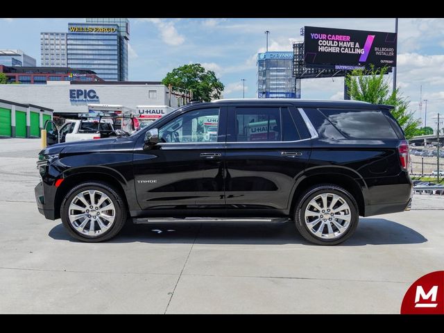
[[[67,67],[67,34],[40,33],[42,67]]]

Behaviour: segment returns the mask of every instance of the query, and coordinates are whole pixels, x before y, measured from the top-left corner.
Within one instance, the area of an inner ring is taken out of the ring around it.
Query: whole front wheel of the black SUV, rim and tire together
[[[60,216],[71,236],[81,241],[105,241],[119,233],[126,221],[126,204],[105,182],[84,182],[65,196]]]

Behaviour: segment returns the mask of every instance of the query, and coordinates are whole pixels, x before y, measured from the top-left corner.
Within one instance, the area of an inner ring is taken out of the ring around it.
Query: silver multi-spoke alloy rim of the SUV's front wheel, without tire
[[[87,189],[71,200],[68,218],[71,226],[80,234],[98,237],[110,230],[116,218],[116,209],[108,195],[96,189]]]

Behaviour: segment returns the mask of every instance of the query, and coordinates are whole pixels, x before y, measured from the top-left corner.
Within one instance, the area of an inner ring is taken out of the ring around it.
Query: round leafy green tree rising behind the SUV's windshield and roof
[[[219,99],[223,83],[216,78],[214,71],[206,71],[200,64],[183,65],[173,69],[162,80],[164,85],[189,89],[196,101],[210,102]]]

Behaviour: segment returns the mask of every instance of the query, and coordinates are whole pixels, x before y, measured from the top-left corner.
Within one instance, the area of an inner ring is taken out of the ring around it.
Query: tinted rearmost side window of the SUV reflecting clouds
[[[334,128],[350,139],[398,139],[380,110],[320,109]]]

